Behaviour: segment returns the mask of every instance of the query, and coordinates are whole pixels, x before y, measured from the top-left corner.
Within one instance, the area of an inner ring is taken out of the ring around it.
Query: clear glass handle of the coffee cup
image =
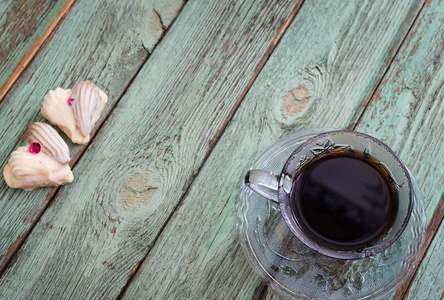
[[[247,187],[267,198],[270,201],[279,204],[278,201],[278,176],[264,170],[249,170],[245,175],[245,184]]]

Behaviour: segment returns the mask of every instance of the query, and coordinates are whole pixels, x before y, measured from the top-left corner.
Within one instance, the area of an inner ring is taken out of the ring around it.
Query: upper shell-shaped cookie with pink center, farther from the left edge
[[[41,113],[77,144],[86,144],[108,97],[89,81],[79,82],[73,90],[57,88],[45,95]]]

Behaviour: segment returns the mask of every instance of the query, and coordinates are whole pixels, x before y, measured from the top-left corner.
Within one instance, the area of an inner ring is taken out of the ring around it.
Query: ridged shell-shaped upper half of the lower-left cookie
[[[43,153],[61,164],[67,164],[70,161],[68,145],[48,124],[35,122],[26,130],[25,139],[28,145],[38,143]]]

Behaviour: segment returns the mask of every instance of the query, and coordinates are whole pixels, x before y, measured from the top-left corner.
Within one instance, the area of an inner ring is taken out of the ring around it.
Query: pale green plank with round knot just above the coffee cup
[[[261,280],[235,230],[245,172],[283,135],[356,123],[420,7],[416,1],[305,2],[124,299],[251,299]]]

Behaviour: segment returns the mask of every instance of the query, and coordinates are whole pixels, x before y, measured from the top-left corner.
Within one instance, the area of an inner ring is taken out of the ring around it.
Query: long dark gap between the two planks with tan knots
[[[134,267],[133,272],[131,274],[131,276],[128,278],[127,283],[125,284],[125,286],[122,288],[122,291],[120,292],[119,296],[117,296],[116,300],[120,300],[125,296],[126,291],[128,290],[128,287],[131,285],[134,277],[136,276],[136,274],[138,272],[140,272],[141,266],[143,265],[143,263],[145,262],[145,260],[147,259],[148,255],[151,252],[151,249],[153,249],[154,245],[156,244],[157,240],[159,239],[160,235],[162,234],[163,230],[165,229],[166,225],[168,224],[168,222],[171,220],[171,218],[173,217],[174,213],[176,212],[176,210],[178,208],[180,208],[183,204],[183,202],[185,201],[185,198],[188,196],[188,193],[190,191],[190,188],[194,182],[194,179],[199,175],[200,170],[203,168],[203,166],[205,165],[205,162],[207,161],[208,157],[210,156],[212,150],[214,149],[214,147],[217,144],[217,141],[219,141],[220,137],[222,136],[222,134],[224,133],[225,129],[228,127],[230,120],[232,119],[232,117],[234,116],[234,114],[236,113],[237,109],[240,106],[240,103],[242,102],[242,100],[245,98],[248,90],[251,88],[251,86],[253,85],[254,81],[256,80],[256,78],[258,77],[260,71],[262,70],[262,68],[265,66],[265,63],[267,62],[268,58],[270,57],[270,55],[273,53],[273,50],[277,47],[277,45],[279,45],[279,41],[281,40],[282,36],[284,35],[285,31],[288,29],[288,27],[290,26],[290,24],[293,22],[293,20],[295,19],[298,11],[300,10],[300,8],[302,7],[302,4],[304,3],[305,0],[302,0],[299,2],[299,4],[296,6],[296,8],[293,10],[293,12],[291,13],[290,17],[287,19],[287,21],[282,25],[281,30],[279,30],[278,34],[276,35],[276,38],[273,40],[273,42],[270,44],[270,46],[268,47],[267,51],[265,52],[264,57],[261,59],[261,61],[259,62],[258,66],[256,67],[253,76],[251,77],[250,81],[248,82],[247,86],[245,87],[244,91],[242,92],[241,96],[239,97],[239,99],[236,101],[236,103],[234,104],[233,108],[231,109],[230,113],[228,114],[227,118],[225,119],[224,123],[222,124],[221,128],[217,131],[216,135],[213,137],[213,139],[210,141],[209,147],[208,147],[208,151],[205,154],[205,157],[203,158],[199,168],[196,170],[196,172],[194,174],[192,174],[189,182],[188,182],[188,186],[186,187],[183,196],[180,198],[179,202],[177,203],[177,205],[174,207],[174,209],[171,211],[171,213],[169,214],[168,218],[165,220],[165,222],[162,224],[159,232],[156,234],[156,237],[153,240],[152,246],[151,248],[148,250],[148,252],[145,254],[145,256],[142,258],[141,261],[139,261],[137,263],[137,265]],[[182,7],[183,9],[183,7]],[[182,10],[181,10],[182,11]],[[180,11],[180,12],[181,12]],[[179,13],[180,13],[179,12]],[[165,32],[166,33],[166,32]],[[163,37],[162,37],[163,38]],[[262,286],[262,285],[261,285]],[[265,290],[262,290],[261,293],[259,294],[259,297],[261,297],[261,295],[265,292]]]

